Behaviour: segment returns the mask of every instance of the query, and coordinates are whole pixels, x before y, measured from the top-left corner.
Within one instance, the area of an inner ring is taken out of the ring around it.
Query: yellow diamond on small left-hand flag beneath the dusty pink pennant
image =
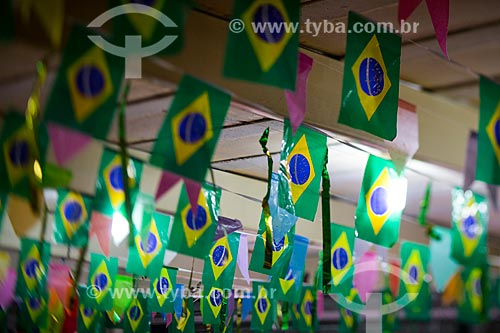
[[[59,212],[62,217],[66,236],[71,239],[75,232],[85,223],[88,218],[87,209],[83,197],[74,192],[69,192],[61,205]]]

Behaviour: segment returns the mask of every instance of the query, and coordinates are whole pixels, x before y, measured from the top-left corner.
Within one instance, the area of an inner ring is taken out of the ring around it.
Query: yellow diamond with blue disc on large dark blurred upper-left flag
[[[75,119],[80,123],[87,120],[113,93],[106,56],[97,46],[68,68],[67,80]]]

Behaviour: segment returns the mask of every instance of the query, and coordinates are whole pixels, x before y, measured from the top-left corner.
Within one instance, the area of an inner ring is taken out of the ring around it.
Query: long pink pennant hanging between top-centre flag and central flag
[[[297,69],[297,82],[295,84],[295,92],[285,91],[286,104],[288,106],[288,115],[292,131],[295,133],[299,128],[307,108],[307,79],[311,72],[313,59],[304,53],[299,53],[299,66]]]

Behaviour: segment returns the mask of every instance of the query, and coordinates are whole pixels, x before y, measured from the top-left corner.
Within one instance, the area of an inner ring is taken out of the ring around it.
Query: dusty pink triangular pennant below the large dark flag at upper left
[[[53,123],[48,124],[47,129],[59,165],[71,160],[92,141],[90,136]]]

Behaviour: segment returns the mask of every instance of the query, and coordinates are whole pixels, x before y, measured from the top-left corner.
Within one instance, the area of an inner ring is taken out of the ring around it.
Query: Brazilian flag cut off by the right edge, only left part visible
[[[500,185],[500,85],[481,76],[476,179]]]

